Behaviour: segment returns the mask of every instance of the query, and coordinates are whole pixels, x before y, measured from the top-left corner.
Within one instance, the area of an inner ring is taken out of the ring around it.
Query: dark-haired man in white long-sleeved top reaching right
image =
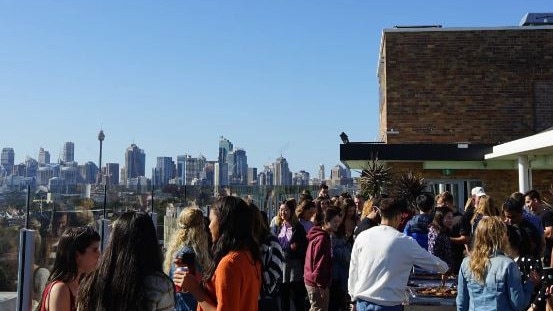
[[[380,226],[363,231],[353,244],[348,291],[357,311],[403,310],[405,286],[413,265],[438,273],[449,269],[447,263],[397,230],[405,209],[404,202],[383,199]]]

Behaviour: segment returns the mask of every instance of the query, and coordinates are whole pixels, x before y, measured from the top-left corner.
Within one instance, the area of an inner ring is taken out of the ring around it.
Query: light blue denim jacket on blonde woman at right
[[[518,266],[511,258],[501,253],[491,257],[485,284],[474,279],[469,263],[470,257],[465,258],[459,271],[458,311],[518,311],[529,305],[534,285],[521,281]]]

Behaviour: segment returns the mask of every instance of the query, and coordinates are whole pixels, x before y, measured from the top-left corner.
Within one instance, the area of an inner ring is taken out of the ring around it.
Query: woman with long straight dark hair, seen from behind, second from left
[[[79,292],[79,311],[173,310],[173,284],[163,273],[161,249],[148,214],[125,212],[113,223],[100,265]]]

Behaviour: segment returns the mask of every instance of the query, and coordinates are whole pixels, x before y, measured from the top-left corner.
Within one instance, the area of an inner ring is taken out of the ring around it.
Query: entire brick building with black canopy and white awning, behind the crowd
[[[486,154],[553,126],[553,26],[385,29],[378,77],[381,141],[342,144],[341,161],[377,156],[458,206],[477,185],[502,201],[519,190],[518,156]],[[551,198],[553,151],[525,155],[529,187]]]

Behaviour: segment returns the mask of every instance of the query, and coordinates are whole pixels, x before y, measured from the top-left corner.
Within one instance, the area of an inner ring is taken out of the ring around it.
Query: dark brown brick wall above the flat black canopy
[[[553,126],[553,28],[521,29],[385,31],[383,140],[496,144]]]

